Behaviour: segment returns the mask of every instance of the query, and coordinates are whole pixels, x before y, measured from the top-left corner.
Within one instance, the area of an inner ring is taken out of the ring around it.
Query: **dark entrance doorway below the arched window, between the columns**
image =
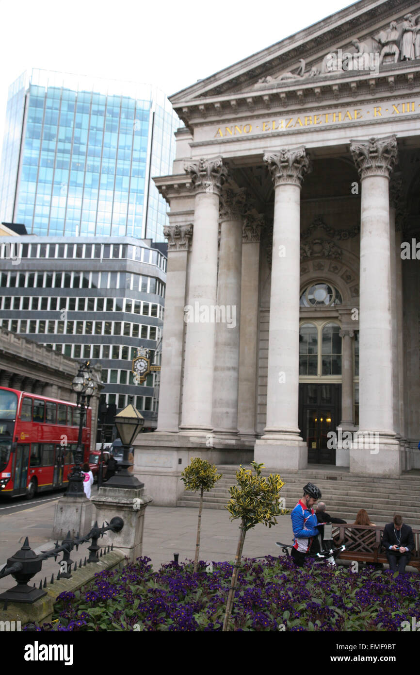
[[[299,429],[308,464],[336,463],[335,449],[327,448],[327,434],[336,432],[340,419],[340,384],[299,384]]]

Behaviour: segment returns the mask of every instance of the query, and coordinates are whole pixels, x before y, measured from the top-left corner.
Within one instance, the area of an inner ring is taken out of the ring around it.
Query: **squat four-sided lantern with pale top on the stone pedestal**
[[[128,489],[144,487],[144,483],[140,483],[140,481],[128,471],[129,467],[132,466],[128,459],[130,446],[133,444],[143,425],[144,417],[136,410],[136,408],[134,408],[132,403],[115,415],[115,426],[117,427],[119,437],[123,443],[124,454],[123,461],[121,462],[121,471],[107,481],[107,487],[126,487]]]

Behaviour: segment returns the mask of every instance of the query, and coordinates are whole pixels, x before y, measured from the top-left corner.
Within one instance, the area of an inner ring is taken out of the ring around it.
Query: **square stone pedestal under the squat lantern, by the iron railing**
[[[92,503],[96,507],[96,520],[98,524],[103,521],[109,522],[114,516],[120,516],[124,520],[121,532],[104,534],[101,545],[113,543],[115,549],[119,549],[130,562],[142,556],[144,512],[146,506],[152,502],[152,498],[144,493],[144,487],[123,488],[107,487],[104,485],[98,490],[98,495],[92,497]]]

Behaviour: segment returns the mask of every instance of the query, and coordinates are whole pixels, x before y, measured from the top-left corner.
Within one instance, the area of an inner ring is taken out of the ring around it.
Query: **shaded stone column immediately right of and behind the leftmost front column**
[[[239,326],[241,323],[242,228],[245,190],[224,190],[220,200],[216,358],[213,426],[219,437],[237,435]]]

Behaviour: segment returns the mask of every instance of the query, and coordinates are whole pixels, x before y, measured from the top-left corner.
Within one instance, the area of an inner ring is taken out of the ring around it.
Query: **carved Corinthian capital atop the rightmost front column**
[[[397,159],[396,136],[352,140],[350,152],[359,171],[360,178],[367,175],[385,175],[390,177]]]

